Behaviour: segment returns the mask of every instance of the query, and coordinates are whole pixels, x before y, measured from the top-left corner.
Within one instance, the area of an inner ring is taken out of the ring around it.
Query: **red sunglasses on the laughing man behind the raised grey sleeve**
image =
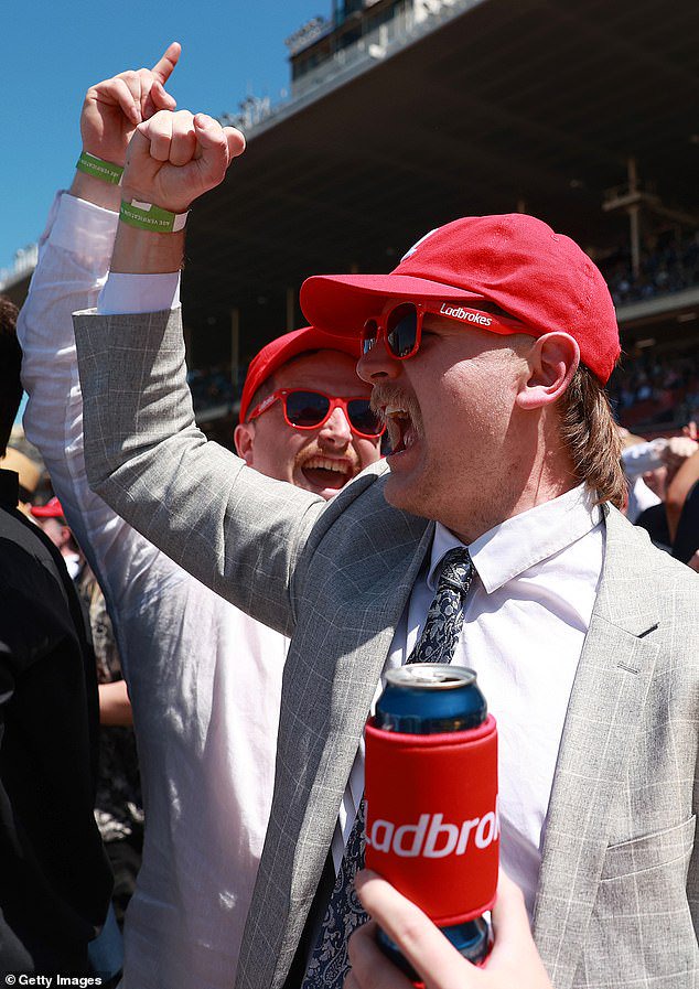
[[[366,440],[378,439],[386,429],[386,423],[372,411],[368,398],[340,398],[302,388],[278,388],[255,406],[248,420],[257,419],[276,401],[281,401],[284,419],[293,429],[320,429],[335,409],[342,409],[352,432]]]

